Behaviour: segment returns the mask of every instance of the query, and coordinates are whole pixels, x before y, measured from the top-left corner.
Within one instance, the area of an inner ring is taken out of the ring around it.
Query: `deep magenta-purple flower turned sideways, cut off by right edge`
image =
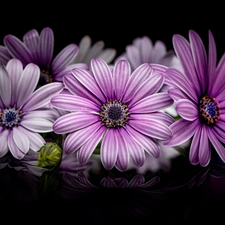
[[[179,34],[173,36],[173,45],[184,73],[167,70],[171,81],[169,94],[176,101],[180,119],[171,125],[173,137],[163,144],[176,146],[191,140],[191,164],[205,167],[212,149],[225,162],[225,57],[216,65],[217,51],[209,31],[208,57],[199,35],[189,31],[189,42]]]

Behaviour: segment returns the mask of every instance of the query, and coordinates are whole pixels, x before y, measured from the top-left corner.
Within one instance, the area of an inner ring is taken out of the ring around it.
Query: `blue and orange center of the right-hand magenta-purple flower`
[[[199,111],[201,121],[207,125],[214,125],[220,118],[220,105],[215,98],[202,97]]]

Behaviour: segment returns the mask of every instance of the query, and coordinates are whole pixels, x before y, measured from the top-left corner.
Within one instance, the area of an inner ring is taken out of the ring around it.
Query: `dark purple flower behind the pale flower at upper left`
[[[71,68],[87,68],[87,65],[81,63],[70,65],[79,50],[76,44],[66,46],[53,58],[54,34],[49,27],[44,28],[40,34],[35,29],[28,31],[23,36],[23,41],[11,34],[6,35],[3,41],[5,47],[0,48],[2,62],[6,63],[10,54],[12,58],[18,58],[23,66],[28,63],[38,65],[41,70],[40,86],[53,81],[62,81],[63,75]]]

